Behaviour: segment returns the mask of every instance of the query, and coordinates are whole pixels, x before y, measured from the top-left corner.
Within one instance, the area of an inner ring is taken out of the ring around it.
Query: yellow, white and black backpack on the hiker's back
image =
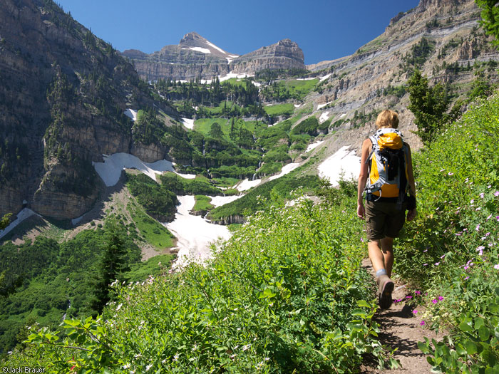
[[[369,137],[372,150],[366,160],[369,178],[366,181],[366,192],[385,198],[398,198],[403,202],[407,189],[407,157],[408,147],[403,142],[400,131],[393,128],[380,128]]]

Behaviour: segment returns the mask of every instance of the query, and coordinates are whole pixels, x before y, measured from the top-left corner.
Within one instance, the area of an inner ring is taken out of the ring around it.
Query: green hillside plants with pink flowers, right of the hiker
[[[497,371],[498,108],[497,95],[478,103],[414,155],[418,217],[396,271],[427,290],[427,325],[448,331],[420,344],[446,373]]]

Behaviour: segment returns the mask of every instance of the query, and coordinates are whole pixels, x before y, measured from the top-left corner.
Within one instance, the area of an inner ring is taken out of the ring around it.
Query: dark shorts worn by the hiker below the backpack
[[[396,238],[406,222],[406,207],[396,209],[394,202],[366,201],[366,229],[369,241]]]

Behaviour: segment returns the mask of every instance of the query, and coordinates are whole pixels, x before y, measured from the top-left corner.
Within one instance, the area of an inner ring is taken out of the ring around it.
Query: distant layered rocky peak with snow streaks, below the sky
[[[305,68],[302,49],[289,39],[237,56],[192,32],[178,46],[165,46],[150,55],[135,49],[122,54],[133,61],[139,75],[146,80],[211,79],[230,72],[252,74],[263,69]]]

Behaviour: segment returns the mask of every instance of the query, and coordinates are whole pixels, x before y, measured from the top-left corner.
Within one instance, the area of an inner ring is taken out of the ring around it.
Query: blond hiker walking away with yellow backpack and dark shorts
[[[366,219],[369,259],[376,271],[379,306],[391,306],[393,238],[404,221],[416,217],[411,148],[403,142],[398,115],[384,110],[376,119],[376,134],[362,143],[361,172],[357,187],[357,216]],[[366,207],[363,194],[366,191]],[[407,195],[409,192],[409,195]]]

